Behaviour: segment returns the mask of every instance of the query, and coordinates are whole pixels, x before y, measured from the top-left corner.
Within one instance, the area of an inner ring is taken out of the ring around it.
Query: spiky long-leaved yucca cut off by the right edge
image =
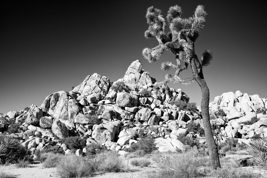
[[[253,155],[253,159],[263,167],[267,166],[267,139],[258,138],[249,142],[249,154]]]

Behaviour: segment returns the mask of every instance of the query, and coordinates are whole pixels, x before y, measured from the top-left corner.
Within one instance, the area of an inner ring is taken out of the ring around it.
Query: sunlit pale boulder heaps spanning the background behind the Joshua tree
[[[19,132],[10,135],[20,139],[32,154],[36,149],[55,144],[69,153],[61,142],[68,136],[80,136],[87,145],[101,143],[120,154],[138,142],[140,133],[157,137],[155,143],[159,151],[184,150],[185,145],[177,139],[181,135],[198,138],[205,144],[205,138],[186,129],[191,122],[203,127],[201,113],[184,111],[170,104],[176,100],[189,102],[189,97],[181,89],[170,88],[169,95],[154,90],[155,79],[142,67],[139,60],[133,61],[124,77],[116,81],[129,86],[130,93],[115,92],[107,77],[94,73],[70,92],[58,91],[47,96],[40,107],[32,105],[29,110],[0,115],[0,131],[5,131],[10,122],[22,123]],[[150,96],[140,94],[143,90],[150,92]],[[266,106],[266,99],[258,95],[248,96],[240,91],[224,93],[210,103],[214,116],[211,123],[218,127],[221,140],[222,137],[244,140],[254,134],[265,136],[267,117],[255,111]],[[219,109],[227,115],[215,115]],[[253,117],[260,120],[252,125],[244,124]],[[77,150],[76,154],[83,152],[87,152],[86,148]]]

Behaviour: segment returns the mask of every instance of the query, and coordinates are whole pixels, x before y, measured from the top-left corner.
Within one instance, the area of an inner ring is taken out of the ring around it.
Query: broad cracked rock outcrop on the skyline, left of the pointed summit
[[[72,91],[78,92],[81,96],[87,97],[90,94],[101,94],[106,96],[109,89],[109,78],[101,76],[98,73],[88,75],[84,81],[75,87]]]

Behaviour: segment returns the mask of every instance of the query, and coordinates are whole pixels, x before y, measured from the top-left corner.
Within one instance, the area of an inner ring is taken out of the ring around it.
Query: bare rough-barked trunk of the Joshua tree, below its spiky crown
[[[195,55],[195,58],[192,59],[190,64],[195,80],[200,86],[202,91],[201,112],[202,112],[206,142],[209,149],[210,167],[212,167],[213,169],[217,169],[221,167],[221,164],[219,161],[218,148],[213,138],[213,132],[211,130],[211,125],[210,125],[210,115],[209,115],[210,91],[204,79],[202,68],[198,72],[196,61],[198,61],[198,59],[197,56]]]

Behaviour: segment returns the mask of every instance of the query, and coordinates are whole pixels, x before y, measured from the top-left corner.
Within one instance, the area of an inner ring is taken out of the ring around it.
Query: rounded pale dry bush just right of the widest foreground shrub
[[[98,170],[103,172],[120,172],[124,167],[122,158],[117,152],[108,152],[105,158],[101,159]]]

